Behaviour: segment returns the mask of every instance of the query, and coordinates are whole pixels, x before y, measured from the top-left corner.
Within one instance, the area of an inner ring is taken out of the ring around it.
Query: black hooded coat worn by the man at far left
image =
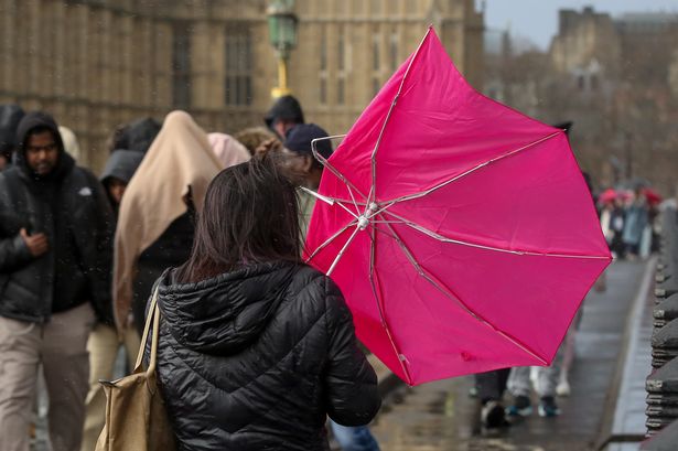
[[[45,176],[25,159],[36,128],[51,131],[58,149],[56,167]],[[26,114],[17,141],[14,165],[0,173],[0,315],[42,323],[89,301],[99,319],[110,318],[114,219],[104,189],[64,151],[51,116]],[[33,257],[21,228],[44,233],[47,253]]]

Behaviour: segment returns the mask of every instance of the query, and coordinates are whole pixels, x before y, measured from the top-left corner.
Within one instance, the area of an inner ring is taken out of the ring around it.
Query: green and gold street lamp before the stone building
[[[269,42],[278,57],[278,86],[271,89],[273,98],[290,94],[287,63],[290,52],[297,45],[298,22],[293,8],[293,0],[275,0],[266,10]]]

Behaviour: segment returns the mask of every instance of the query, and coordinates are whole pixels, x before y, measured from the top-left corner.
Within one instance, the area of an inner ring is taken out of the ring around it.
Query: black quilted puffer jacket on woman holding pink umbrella
[[[158,372],[181,450],[326,450],[326,415],[376,415],[377,377],[331,279],[287,262],[172,278],[159,286]]]

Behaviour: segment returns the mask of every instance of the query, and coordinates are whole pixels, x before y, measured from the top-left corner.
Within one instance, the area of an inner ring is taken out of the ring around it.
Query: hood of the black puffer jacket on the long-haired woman
[[[284,299],[297,265],[248,265],[197,283],[173,283],[174,270],[160,279],[158,303],[172,336],[185,347],[229,355],[260,335]]]

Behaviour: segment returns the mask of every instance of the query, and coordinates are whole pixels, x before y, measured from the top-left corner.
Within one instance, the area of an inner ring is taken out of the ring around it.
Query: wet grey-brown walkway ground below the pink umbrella
[[[577,336],[570,373],[572,395],[559,398],[558,418],[531,417],[487,434],[480,427],[478,402],[469,396],[472,377],[399,387],[385,399],[372,427],[383,451],[582,451],[605,439],[614,410],[617,357],[629,307],[645,269],[643,262],[615,262],[607,290],[591,292]],[[509,396],[506,400],[509,401]],[[537,399],[534,399],[536,402]],[[536,409],[535,409],[536,410]]]

